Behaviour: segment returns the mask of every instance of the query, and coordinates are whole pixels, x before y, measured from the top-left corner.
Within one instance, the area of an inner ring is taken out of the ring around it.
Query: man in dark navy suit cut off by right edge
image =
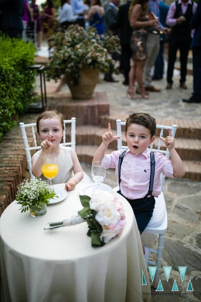
[[[191,27],[195,28],[192,41],[193,49],[193,94],[187,103],[201,103],[201,1],[198,2],[196,12],[191,19]]]

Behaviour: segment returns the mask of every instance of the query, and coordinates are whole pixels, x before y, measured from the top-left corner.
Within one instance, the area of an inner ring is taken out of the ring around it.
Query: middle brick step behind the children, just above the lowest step
[[[97,126],[77,126],[76,127],[76,146],[77,145],[96,145],[100,146],[102,143],[102,135],[107,132],[107,128],[100,128]],[[66,127],[66,141],[69,140],[70,128]],[[113,131],[113,134],[116,135],[116,130]],[[168,134],[168,133],[167,133]],[[154,148],[158,146],[158,137],[154,141]],[[124,133],[122,133],[123,145],[126,146],[126,139]],[[114,140],[110,143],[110,148],[113,150],[117,149],[117,141]],[[166,147],[163,142],[161,142],[161,149],[165,150]],[[201,149],[200,149],[200,140],[197,139],[175,139],[175,149],[177,150],[181,159],[185,160],[201,160]]]

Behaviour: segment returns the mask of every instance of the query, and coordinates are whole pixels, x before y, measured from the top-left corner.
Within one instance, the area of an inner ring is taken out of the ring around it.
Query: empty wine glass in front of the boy
[[[100,184],[102,182],[104,182],[105,176],[106,176],[105,164],[102,163],[100,160],[92,162],[91,178],[92,178],[93,182],[95,182],[97,184],[97,187],[94,188],[94,190],[97,190],[100,188]]]

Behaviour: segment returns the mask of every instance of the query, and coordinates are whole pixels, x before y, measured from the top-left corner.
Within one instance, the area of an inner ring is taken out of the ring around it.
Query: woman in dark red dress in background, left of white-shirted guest
[[[52,0],[46,1],[46,5],[43,9],[42,16],[43,16],[43,34],[45,39],[48,39],[51,30],[53,30],[54,28],[55,8]]]

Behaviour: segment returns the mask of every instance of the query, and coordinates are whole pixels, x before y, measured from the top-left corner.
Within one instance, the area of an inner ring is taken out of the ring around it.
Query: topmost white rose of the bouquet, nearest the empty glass
[[[114,197],[112,194],[110,194],[108,191],[99,189],[91,196],[89,201],[90,209],[98,211],[101,205],[110,203],[113,200]]]

